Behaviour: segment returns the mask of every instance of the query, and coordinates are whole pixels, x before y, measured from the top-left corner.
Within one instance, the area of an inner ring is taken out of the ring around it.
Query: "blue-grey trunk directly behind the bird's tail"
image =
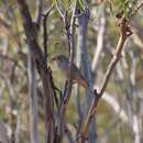
[[[77,62],[78,66],[81,64],[81,70],[84,72],[84,75],[88,81],[88,89],[87,89],[87,107],[86,112],[84,113],[87,116],[88,107],[91,103],[94,94],[92,94],[92,78],[91,78],[91,67],[89,64],[89,57],[88,57],[88,51],[87,51],[87,26],[88,26],[88,20],[89,20],[89,11],[85,11],[84,14],[81,14],[78,18],[78,45],[77,45]],[[95,118],[90,124],[89,130],[89,143],[95,143],[97,140],[96,136],[96,122]]]

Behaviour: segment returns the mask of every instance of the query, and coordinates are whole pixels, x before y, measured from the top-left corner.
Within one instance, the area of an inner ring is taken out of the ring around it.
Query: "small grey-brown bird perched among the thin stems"
[[[59,54],[53,57],[52,62],[56,62],[57,67],[64,75],[66,75],[66,78],[69,77],[70,62],[68,57],[66,57],[64,54]],[[81,72],[75,64],[72,64],[70,78],[73,84],[78,84],[84,88],[88,88],[86,78],[82,76]]]

